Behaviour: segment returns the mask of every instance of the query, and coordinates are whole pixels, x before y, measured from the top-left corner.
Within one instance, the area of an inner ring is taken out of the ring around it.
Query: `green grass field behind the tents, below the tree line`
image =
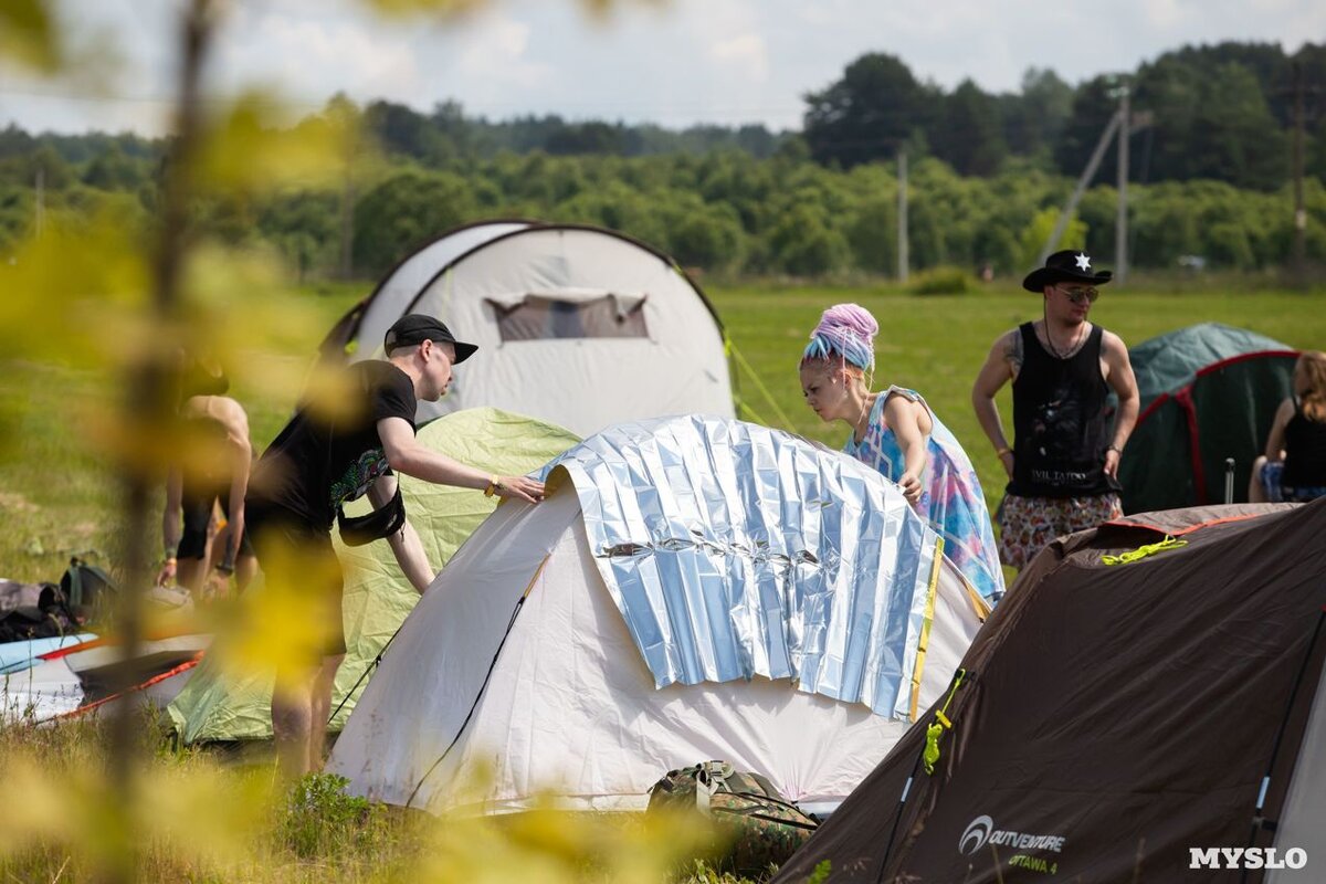
[[[337,284],[292,293],[292,298],[314,304],[325,323],[300,330],[293,351],[267,355],[296,366],[310,363],[325,330],[369,288]],[[895,383],[919,390],[968,449],[991,504],[997,501],[1002,473],[968,396],[994,338],[1040,315],[1038,296],[1012,286],[924,297],[891,285],[747,284],[711,285],[707,292],[749,366],[749,371],[739,368],[736,386],[752,412],[834,447],[845,439],[846,427],[819,423],[802,404],[797,360],[821,310],[841,301],[867,307],[880,323],[875,387]],[[1196,322],[1224,322],[1293,347],[1326,347],[1326,289],[1250,292],[1231,285],[1223,292],[1209,285],[1148,288],[1143,282],[1127,290],[1106,289],[1091,318],[1128,343]],[[256,355],[240,351],[237,358]],[[86,414],[90,404],[115,400],[114,382],[58,364],[0,360],[0,577],[56,579],[70,554],[111,551],[118,486],[98,455],[95,425]],[[247,388],[243,382],[232,392],[249,410],[253,440],[261,448],[280,429],[293,402]],[[1008,421],[1006,390],[1001,408]]]

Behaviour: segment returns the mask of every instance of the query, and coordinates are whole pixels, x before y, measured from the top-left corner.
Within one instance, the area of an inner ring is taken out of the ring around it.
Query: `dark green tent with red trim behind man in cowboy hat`
[[[1298,353],[1204,322],[1144,341],[1128,357],[1142,412],[1119,463],[1124,512],[1223,502],[1227,459],[1233,502],[1246,501],[1252,463],[1290,394]]]

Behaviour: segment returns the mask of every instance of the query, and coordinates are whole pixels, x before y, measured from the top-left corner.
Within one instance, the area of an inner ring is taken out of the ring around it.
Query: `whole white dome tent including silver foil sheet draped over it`
[[[797,436],[619,424],[548,482],[406,620],[329,762],[353,791],[631,810],[667,770],[724,759],[831,804],[947,688],[985,612],[896,486]]]

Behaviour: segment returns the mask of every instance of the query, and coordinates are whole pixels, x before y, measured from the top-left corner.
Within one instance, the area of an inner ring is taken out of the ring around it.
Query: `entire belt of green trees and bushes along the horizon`
[[[1309,44],[1290,58],[1262,44],[1188,48],[1127,78],[1134,109],[1152,121],[1134,135],[1136,266],[1200,256],[1260,269],[1288,258],[1294,103],[1281,85],[1296,62],[1305,82],[1321,82],[1326,49]],[[419,243],[495,216],[609,227],[709,272],[891,273],[895,158],[906,148],[911,266],[1017,274],[1053,229],[1119,85],[1098,77],[1071,87],[1032,70],[1016,95],[971,82],[944,93],[896,58],[869,54],[806,95],[801,133],[489,122],[455,103],[420,114],[337,97],[292,133],[353,118],[361,137],[339,186],[212,196],[194,215],[206,235],[278,250],[301,277],[377,276]],[[1305,192],[1307,253],[1326,261],[1321,117],[1309,130]],[[146,229],[167,147],[129,134],[0,131],[0,252],[38,219],[76,224],[111,212]],[[1114,188],[1097,184],[1061,244],[1113,254],[1114,215]]]

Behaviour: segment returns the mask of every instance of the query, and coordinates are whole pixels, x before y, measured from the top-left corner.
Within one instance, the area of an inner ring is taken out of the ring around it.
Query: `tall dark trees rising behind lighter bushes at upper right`
[[[1127,89],[1134,111],[1131,180],[1207,179],[1274,190],[1290,174],[1297,78],[1303,85],[1307,174],[1326,175],[1326,44],[1289,56],[1278,44],[1223,42],[1168,52],[1132,73],[1078,86],[1030,69],[1021,91],[971,80],[951,93],[898,58],[866,54],[806,97],[812,156],[845,168],[899,150],[934,155],[961,175],[997,175],[1010,160],[1077,176]],[[1114,168],[1114,147],[1105,168]]]

